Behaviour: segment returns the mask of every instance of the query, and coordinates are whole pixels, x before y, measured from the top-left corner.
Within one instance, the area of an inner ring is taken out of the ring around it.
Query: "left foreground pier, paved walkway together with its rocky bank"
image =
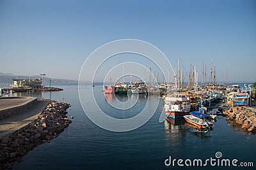
[[[12,169],[33,148],[57,138],[71,123],[69,107],[68,103],[37,101],[29,110],[1,120],[0,169]]]

